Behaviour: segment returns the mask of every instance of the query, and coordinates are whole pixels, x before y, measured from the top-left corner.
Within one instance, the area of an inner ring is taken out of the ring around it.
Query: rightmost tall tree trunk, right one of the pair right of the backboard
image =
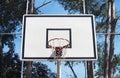
[[[109,0],[109,8],[111,12],[111,16],[110,16],[111,33],[115,33],[117,20],[115,19],[114,0]],[[108,70],[109,78],[114,78],[114,39],[115,39],[115,35],[111,34],[110,35],[110,48],[109,48],[109,51],[110,51],[109,52],[109,70]]]

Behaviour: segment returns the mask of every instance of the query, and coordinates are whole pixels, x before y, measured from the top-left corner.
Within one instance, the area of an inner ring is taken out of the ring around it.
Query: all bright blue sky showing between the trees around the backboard
[[[50,1],[50,0],[46,0]],[[35,0],[35,6],[38,7],[39,5],[41,5],[44,2],[44,0]],[[115,4],[117,7],[117,11],[120,10],[119,6],[120,2],[119,0],[115,0]],[[64,8],[59,5],[56,1],[52,1],[51,3],[47,4],[46,6],[43,6],[40,8],[42,14],[67,14],[68,12],[64,10]],[[120,39],[120,38],[119,38]],[[21,37],[20,35],[17,35],[17,38],[15,39],[16,44],[16,52],[20,53],[20,46],[21,46]],[[119,46],[120,43],[116,43],[116,46]],[[116,49],[117,52],[120,52],[118,49]],[[57,66],[55,64],[55,62],[42,62],[44,64],[48,65],[48,68],[50,68],[53,72],[57,73]],[[65,62],[62,62],[61,64],[61,78],[72,78],[70,75],[73,76],[70,68],[68,66],[64,66]],[[74,67],[75,73],[77,74],[78,78],[85,78],[85,65],[84,63],[78,63],[76,64]]]

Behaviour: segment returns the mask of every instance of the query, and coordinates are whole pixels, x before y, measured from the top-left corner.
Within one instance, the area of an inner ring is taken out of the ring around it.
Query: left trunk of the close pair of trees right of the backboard
[[[109,7],[109,3],[108,3],[108,7]],[[111,12],[110,12],[110,7],[108,8],[108,21],[107,21],[107,27],[106,27],[106,35],[105,35],[105,50],[104,50],[104,78],[108,78],[108,69],[109,69],[109,39],[110,39],[110,16],[111,16]]]

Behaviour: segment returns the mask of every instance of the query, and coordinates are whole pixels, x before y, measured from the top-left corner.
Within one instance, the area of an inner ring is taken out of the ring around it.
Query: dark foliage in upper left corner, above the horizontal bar
[[[26,0],[1,0],[0,32],[14,32],[25,13]]]

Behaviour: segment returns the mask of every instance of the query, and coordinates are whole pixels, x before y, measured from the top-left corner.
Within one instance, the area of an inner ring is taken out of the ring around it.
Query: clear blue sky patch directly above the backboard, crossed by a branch
[[[43,14],[67,14],[68,12],[64,10],[64,8],[59,5],[59,3],[55,0],[46,0],[46,2],[52,1],[51,3],[40,8]],[[44,0],[35,0],[35,6],[42,5]]]

